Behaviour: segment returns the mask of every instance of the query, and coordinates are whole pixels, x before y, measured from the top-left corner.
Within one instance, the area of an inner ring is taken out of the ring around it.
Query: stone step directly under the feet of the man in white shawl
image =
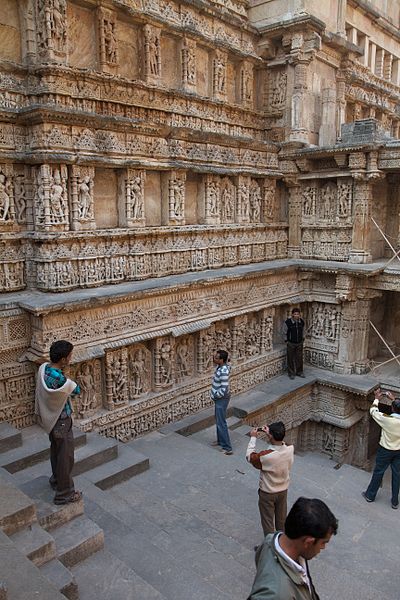
[[[83,514],[83,498],[78,502],[71,502],[60,506],[54,504],[54,490],[51,489],[48,477],[46,476],[27,481],[19,487],[27,496],[34,500],[38,522],[46,531],[60,527]]]

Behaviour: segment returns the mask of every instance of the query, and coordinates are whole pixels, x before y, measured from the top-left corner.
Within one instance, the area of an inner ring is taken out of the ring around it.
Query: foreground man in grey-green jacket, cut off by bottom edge
[[[271,533],[256,553],[257,574],[247,600],[319,600],[308,562],[336,535],[338,522],[318,499],[298,498],[285,532]]]

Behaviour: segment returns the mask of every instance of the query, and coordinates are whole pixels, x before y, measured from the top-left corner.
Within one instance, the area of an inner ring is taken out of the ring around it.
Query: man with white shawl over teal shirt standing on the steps
[[[35,413],[50,439],[52,476],[49,483],[56,491],[54,504],[78,502],[82,497],[81,492],[75,491],[72,479],[74,435],[69,399],[81,390],[63,373],[70,363],[72,350],[73,345],[66,340],[54,342],[50,347],[51,362],[40,366],[36,383]]]

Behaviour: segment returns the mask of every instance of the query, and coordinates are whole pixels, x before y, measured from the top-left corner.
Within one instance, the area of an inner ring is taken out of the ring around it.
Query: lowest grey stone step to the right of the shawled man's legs
[[[114,460],[87,471],[86,477],[102,490],[147,471],[149,459],[129,446],[119,443],[118,456]]]

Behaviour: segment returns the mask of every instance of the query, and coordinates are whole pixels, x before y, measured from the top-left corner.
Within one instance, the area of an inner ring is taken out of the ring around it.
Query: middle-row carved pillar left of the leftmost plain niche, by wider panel
[[[71,168],[71,229],[96,229],[94,220],[94,167]]]

